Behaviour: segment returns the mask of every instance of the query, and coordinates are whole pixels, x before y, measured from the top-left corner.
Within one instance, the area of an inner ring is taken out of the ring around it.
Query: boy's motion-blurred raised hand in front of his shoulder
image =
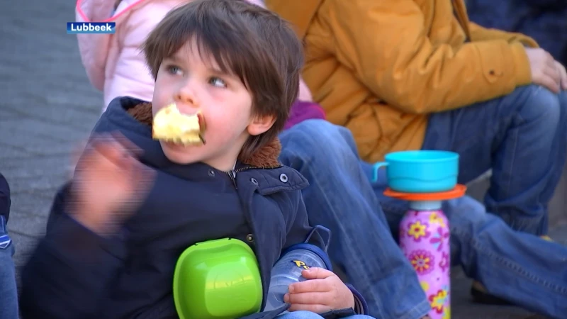
[[[135,159],[137,147],[123,136],[91,140],[77,162],[72,192],[74,218],[100,235],[116,231],[143,201],[153,174]]]

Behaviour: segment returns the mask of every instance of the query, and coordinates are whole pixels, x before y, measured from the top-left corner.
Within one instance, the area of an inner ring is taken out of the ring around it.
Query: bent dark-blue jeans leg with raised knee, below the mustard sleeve
[[[460,155],[459,182],[492,169],[485,206],[515,230],[547,232],[547,204],[567,148],[567,93],[522,86],[500,99],[435,113],[424,150]]]

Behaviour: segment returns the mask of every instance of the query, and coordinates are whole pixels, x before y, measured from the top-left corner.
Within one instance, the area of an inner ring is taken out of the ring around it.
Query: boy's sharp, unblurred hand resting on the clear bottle
[[[322,268],[303,270],[306,281],[289,285],[283,301],[290,303],[290,311],[307,310],[326,313],[330,310],[354,308],[354,296],[339,277]]]

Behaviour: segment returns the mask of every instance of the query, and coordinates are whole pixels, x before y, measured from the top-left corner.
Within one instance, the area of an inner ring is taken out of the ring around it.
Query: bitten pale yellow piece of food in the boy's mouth
[[[205,121],[197,112],[185,115],[179,112],[175,103],[159,110],[152,124],[152,138],[182,145],[204,145]]]

